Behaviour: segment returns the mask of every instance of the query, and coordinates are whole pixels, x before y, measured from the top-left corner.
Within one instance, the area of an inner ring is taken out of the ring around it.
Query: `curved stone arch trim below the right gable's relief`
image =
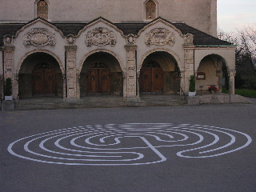
[[[139,74],[139,71],[142,69],[142,65],[143,65],[144,60],[145,60],[150,54],[153,54],[154,52],[166,52],[167,54],[170,54],[170,56],[172,56],[172,57],[176,60],[176,62],[177,62],[177,64],[178,64],[178,68],[179,68],[180,70],[183,69],[183,67],[182,67],[182,62],[181,62],[180,58],[178,57],[178,55],[174,53],[174,51],[172,51],[172,50],[167,50],[167,49],[164,49],[164,48],[158,48],[158,49],[154,49],[154,50],[149,50],[149,51],[146,52],[146,54],[143,54],[143,55],[142,55],[142,58],[141,58],[140,62],[138,63],[138,68],[137,68],[138,74]]]

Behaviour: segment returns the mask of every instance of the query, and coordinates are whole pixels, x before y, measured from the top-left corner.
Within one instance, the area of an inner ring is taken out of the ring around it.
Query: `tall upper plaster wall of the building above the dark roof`
[[[29,22],[35,0],[0,0],[0,22]],[[50,21],[90,22],[102,16],[111,22],[143,22],[145,0],[50,0]],[[217,0],[158,0],[158,15],[184,21],[207,34],[217,34]]]

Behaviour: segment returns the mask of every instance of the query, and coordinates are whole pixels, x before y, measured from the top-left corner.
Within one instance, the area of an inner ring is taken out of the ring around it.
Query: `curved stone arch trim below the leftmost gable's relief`
[[[18,66],[17,66],[17,69],[15,70],[15,74],[18,74],[19,73],[19,70],[21,69],[21,66],[22,66],[22,62],[24,62],[24,60],[30,56],[30,54],[35,54],[35,53],[45,53],[45,54],[50,54],[50,56],[54,57],[56,59],[56,61],[58,62],[58,65],[60,67],[60,69],[62,70],[62,74],[65,74],[65,69],[64,69],[64,66],[62,64],[62,61],[60,58],[58,58],[58,56],[52,52],[50,52],[49,50],[31,50],[30,52],[24,54],[22,56],[22,58],[19,60],[18,62]]]

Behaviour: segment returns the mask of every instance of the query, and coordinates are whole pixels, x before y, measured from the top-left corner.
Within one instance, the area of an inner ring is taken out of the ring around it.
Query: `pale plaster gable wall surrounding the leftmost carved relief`
[[[45,28],[49,30],[52,34],[55,35],[56,37],[56,44],[55,46],[24,46],[23,45],[23,36],[27,34],[31,29],[33,28]],[[62,72],[64,69],[65,65],[65,45],[66,45],[66,40],[62,38],[62,35],[59,34],[56,30],[51,28],[50,26],[46,26],[42,22],[36,22],[33,26],[30,26],[23,30],[21,33],[18,34],[17,38],[14,38],[14,43],[13,45],[15,46],[14,50],[14,73],[18,73],[19,67],[22,62],[22,59],[25,59],[24,57],[27,53],[34,52],[34,51],[49,51],[50,53],[54,54],[61,63],[59,63],[61,66]]]

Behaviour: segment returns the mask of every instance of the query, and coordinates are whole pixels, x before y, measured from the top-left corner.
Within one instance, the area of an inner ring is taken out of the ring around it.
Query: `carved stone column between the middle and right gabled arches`
[[[134,98],[137,93],[136,50],[137,46],[126,45],[126,74],[124,74],[123,97]]]

